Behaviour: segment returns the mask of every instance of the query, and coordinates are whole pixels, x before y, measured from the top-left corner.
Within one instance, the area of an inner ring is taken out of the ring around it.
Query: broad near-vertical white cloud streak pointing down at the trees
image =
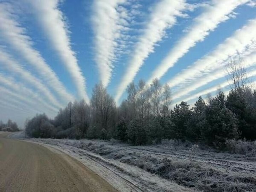
[[[118,8],[126,0],[94,0],[92,24],[95,34],[95,61],[99,78],[107,87],[112,75],[113,61],[116,58],[118,40],[127,29],[127,21]]]

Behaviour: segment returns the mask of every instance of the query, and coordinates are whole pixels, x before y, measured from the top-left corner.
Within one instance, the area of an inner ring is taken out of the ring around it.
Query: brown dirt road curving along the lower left
[[[116,191],[72,157],[0,134],[0,191]]]

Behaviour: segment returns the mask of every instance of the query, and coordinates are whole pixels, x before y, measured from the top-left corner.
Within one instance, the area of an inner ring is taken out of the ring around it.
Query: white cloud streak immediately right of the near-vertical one
[[[166,34],[166,29],[171,28],[177,17],[183,16],[182,11],[186,8],[183,0],[161,0],[154,7],[150,19],[145,28],[144,34],[139,38],[128,68],[118,85],[115,100],[119,101],[126,87],[140,70],[148,55],[154,52],[157,42],[161,41]]]

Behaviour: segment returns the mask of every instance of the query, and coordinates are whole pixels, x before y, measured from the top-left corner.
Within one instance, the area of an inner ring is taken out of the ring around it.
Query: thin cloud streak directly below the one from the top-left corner
[[[40,90],[41,94],[49,99],[52,105],[55,105],[58,108],[63,107],[39,79],[33,76],[29,71],[24,70],[23,67],[21,67],[20,64],[18,64],[7,52],[4,52],[3,49],[0,49],[0,65],[11,73],[17,73],[20,78],[31,84],[35,89]]]

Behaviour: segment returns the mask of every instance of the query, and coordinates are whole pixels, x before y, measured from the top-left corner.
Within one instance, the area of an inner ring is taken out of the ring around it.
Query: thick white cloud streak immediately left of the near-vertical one
[[[70,73],[80,99],[89,103],[86,93],[85,78],[79,67],[76,54],[71,48],[70,31],[67,29],[63,13],[58,9],[60,0],[24,0],[32,5],[44,34],[49,39],[53,49],[58,52],[62,63]]]

